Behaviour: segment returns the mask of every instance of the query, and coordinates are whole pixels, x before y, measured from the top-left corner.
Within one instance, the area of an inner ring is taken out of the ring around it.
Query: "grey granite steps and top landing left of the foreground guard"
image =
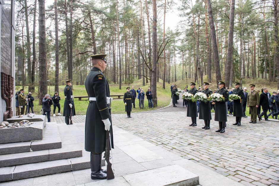
[[[0,182],[90,168],[84,133],[76,129],[50,122],[42,140],[0,144]]]

